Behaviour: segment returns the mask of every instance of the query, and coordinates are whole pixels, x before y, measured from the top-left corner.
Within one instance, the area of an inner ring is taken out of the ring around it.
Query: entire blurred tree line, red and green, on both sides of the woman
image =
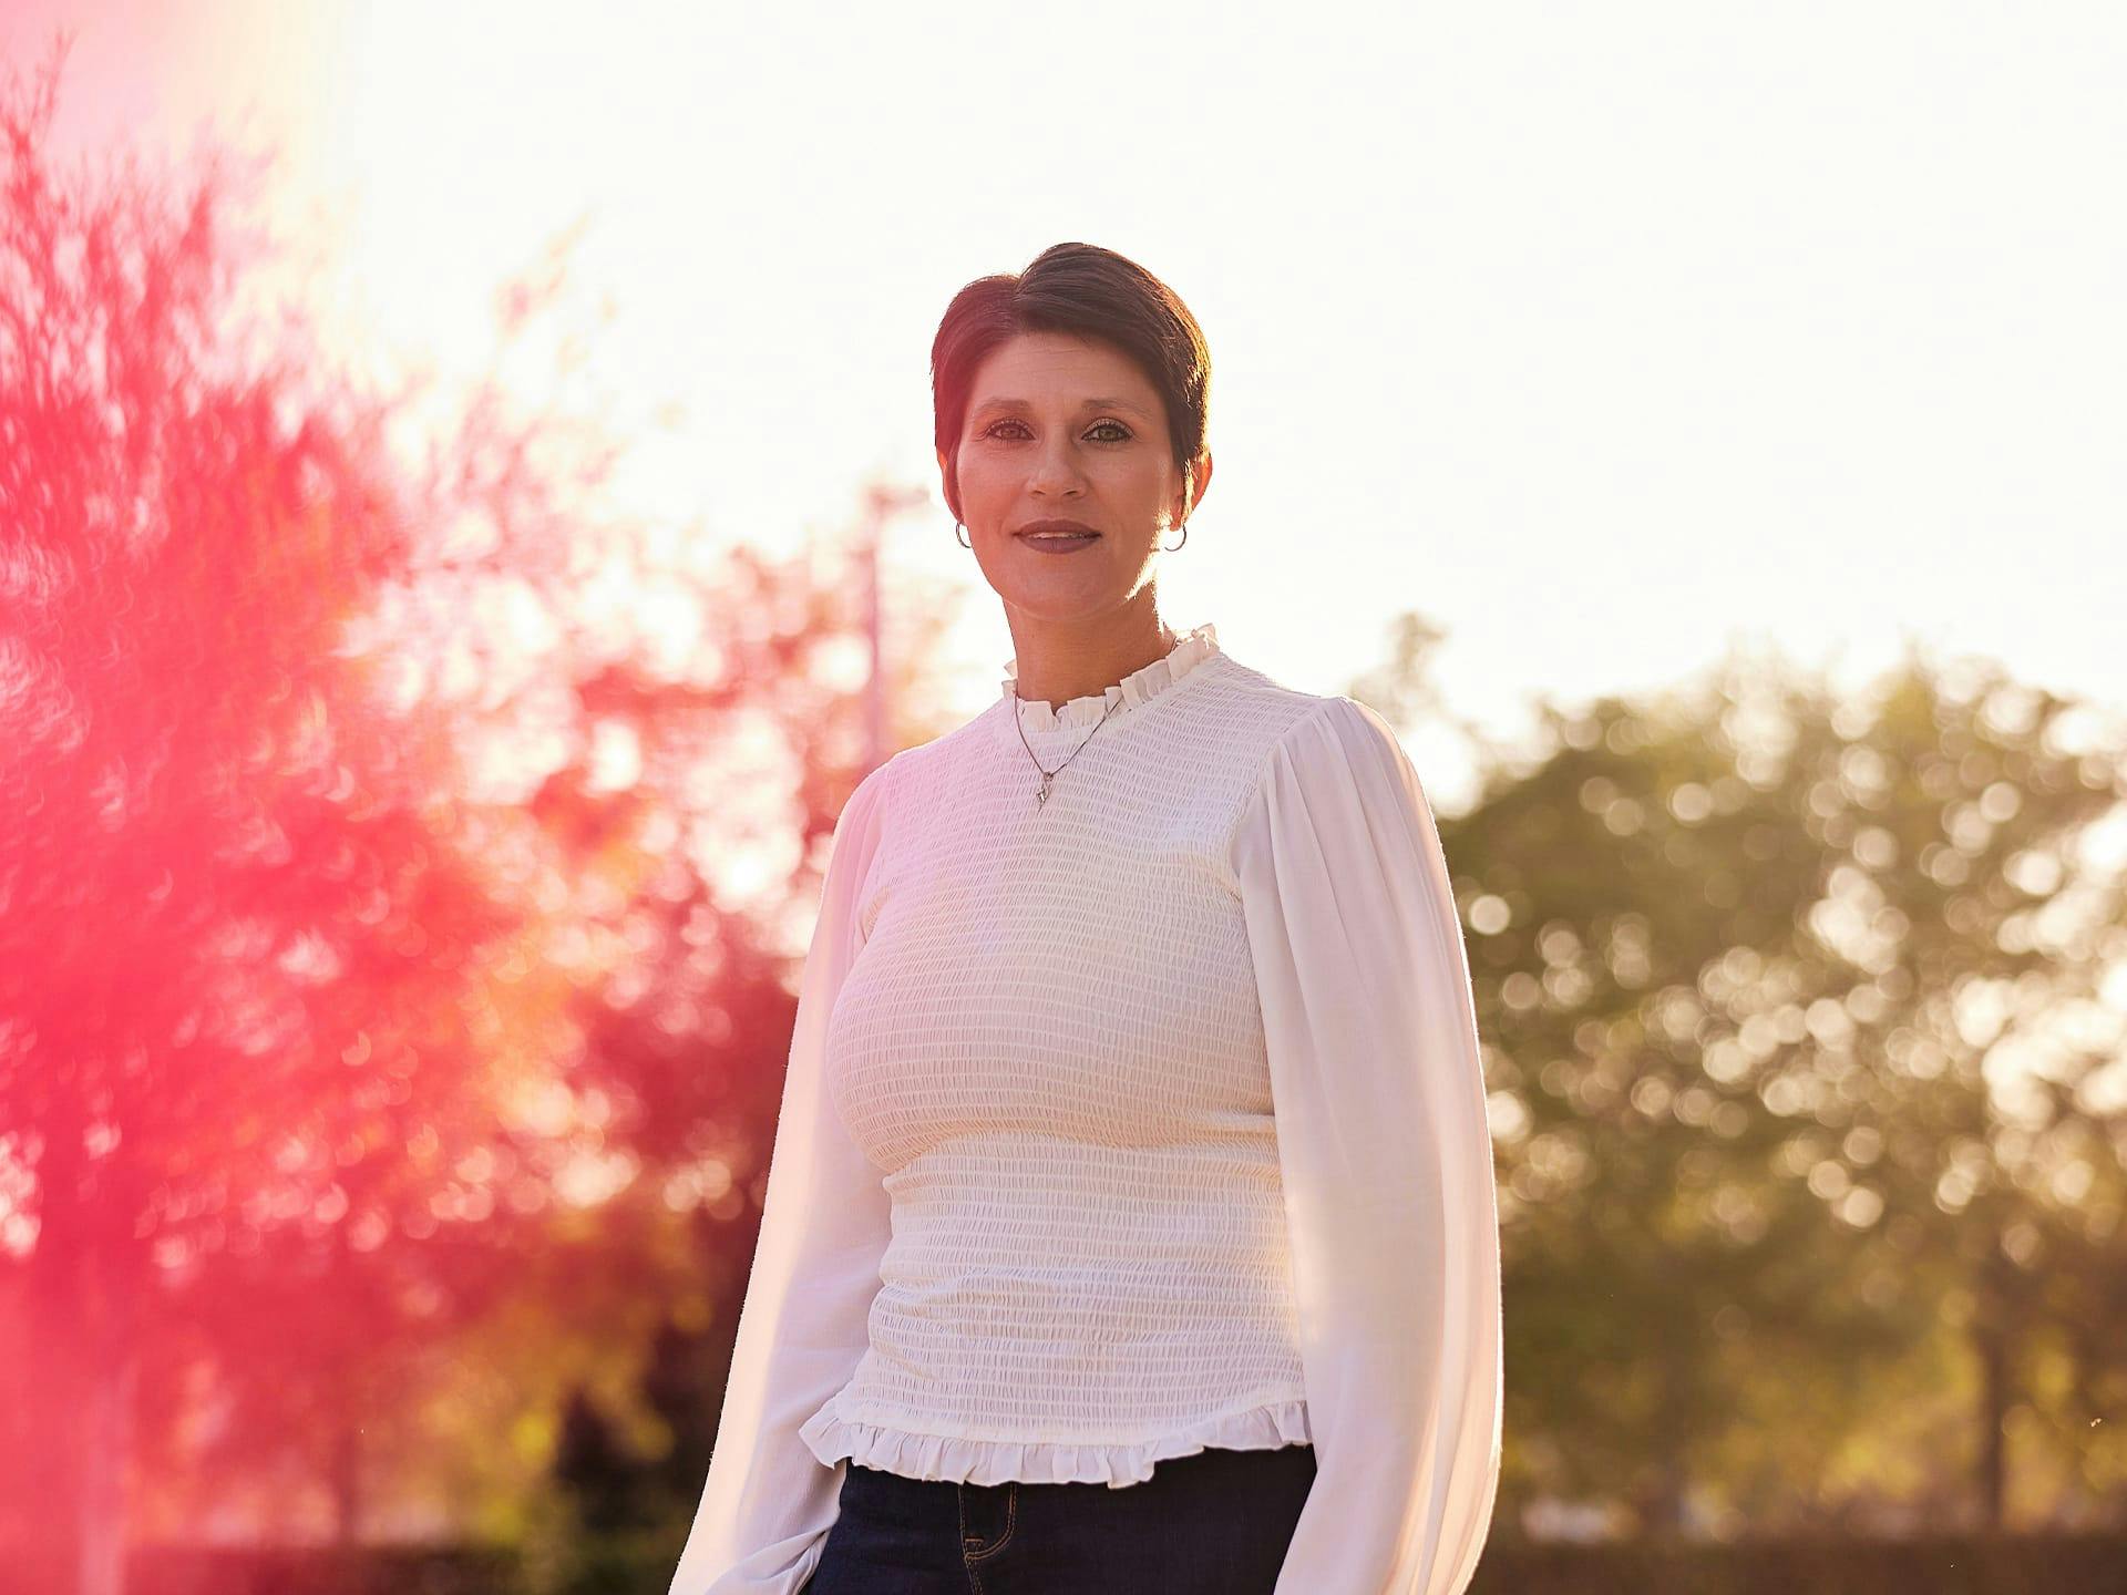
[[[57,83],[0,117],[13,1589],[661,1591],[881,753],[872,572],[674,561],[506,355],[406,451],[411,389],[232,319],[242,174],[62,170]],[[555,291],[498,296],[504,349]],[[953,723],[970,598],[898,617],[887,749]],[[2127,1586],[2121,717],[1731,653],[1508,746],[1442,636],[1342,689],[1478,772],[1478,1589]]]

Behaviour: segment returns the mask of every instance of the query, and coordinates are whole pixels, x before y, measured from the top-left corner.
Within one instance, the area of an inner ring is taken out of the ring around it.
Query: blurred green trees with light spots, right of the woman
[[[1485,761],[1440,829],[1497,1108],[1508,1521],[1555,1493],[1670,1531],[1693,1489],[1806,1518],[1944,1321],[1980,1374],[1980,1516],[2014,1391],[2116,1478],[2089,1427],[2127,1342],[2095,1002],[2127,931],[2076,861],[2118,815],[2099,729],[1976,666],[1846,700],[1729,661],[1546,706],[1534,755]],[[2057,1397],[2019,1380],[2042,1342]],[[1925,1499],[1959,1433],[1904,1438]]]

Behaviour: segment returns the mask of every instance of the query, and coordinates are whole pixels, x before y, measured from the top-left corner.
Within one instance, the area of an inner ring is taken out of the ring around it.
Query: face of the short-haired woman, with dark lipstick
[[[940,472],[944,464],[940,449]],[[1025,615],[1072,621],[1125,604],[1202,498],[1208,453],[1198,474],[1185,498],[1159,389],[1108,345],[1027,332],[974,372],[959,434],[961,519],[983,576]],[[1068,553],[1019,536],[1044,519],[1083,521],[1100,536]]]

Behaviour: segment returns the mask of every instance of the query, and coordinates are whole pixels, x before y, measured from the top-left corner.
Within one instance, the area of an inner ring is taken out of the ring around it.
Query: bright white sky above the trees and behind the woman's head
[[[13,0],[6,64],[55,23],[64,136],[279,147],[366,359],[479,366],[496,283],[583,223],[598,389],[683,415],[632,502],[787,544],[874,472],[927,489],[885,559],[968,589],[968,715],[1010,634],[929,338],[1066,238],[1210,338],[1163,615],[1295,687],[1414,608],[1500,736],[1731,638],[1859,678],[1910,634],[2127,706],[2114,4]]]

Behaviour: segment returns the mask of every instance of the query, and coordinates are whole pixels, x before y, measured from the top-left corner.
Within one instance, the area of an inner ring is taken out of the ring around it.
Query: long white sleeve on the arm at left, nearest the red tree
[[[861,944],[885,770],[842,804],[830,842],[723,1416],[670,1595],[795,1595],[840,1512],[842,1467],[823,1467],[798,1429],[864,1355],[891,1229],[881,1172],[823,1080],[827,1014]]]

